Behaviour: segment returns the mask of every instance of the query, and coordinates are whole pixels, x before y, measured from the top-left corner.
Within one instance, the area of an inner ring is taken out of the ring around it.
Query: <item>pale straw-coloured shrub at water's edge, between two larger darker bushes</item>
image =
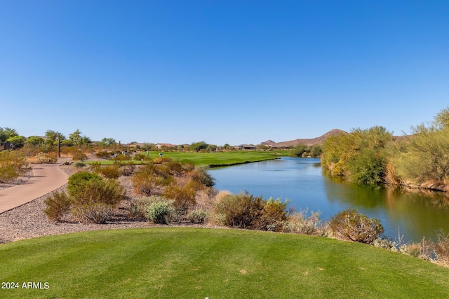
[[[320,235],[325,236],[326,228],[320,220],[320,211],[311,211],[310,216],[308,210],[302,210],[290,214],[288,221],[284,223],[284,232],[292,232],[300,235]]]

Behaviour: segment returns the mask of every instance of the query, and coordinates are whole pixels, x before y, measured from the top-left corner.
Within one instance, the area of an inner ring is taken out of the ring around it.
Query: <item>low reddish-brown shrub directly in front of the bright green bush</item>
[[[78,221],[102,224],[111,218],[114,214],[114,208],[102,202],[82,204],[75,207],[72,214]]]

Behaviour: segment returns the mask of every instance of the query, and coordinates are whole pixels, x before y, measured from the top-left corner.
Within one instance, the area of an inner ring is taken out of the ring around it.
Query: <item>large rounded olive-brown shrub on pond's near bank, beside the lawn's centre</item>
[[[214,204],[213,214],[226,216],[223,225],[234,228],[253,228],[255,221],[262,214],[262,209],[262,196],[254,197],[246,192],[220,197],[220,200]]]

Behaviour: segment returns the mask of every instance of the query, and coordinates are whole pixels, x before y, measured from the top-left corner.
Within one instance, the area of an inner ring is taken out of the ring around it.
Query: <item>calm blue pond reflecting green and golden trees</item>
[[[449,232],[449,199],[441,192],[370,188],[323,174],[318,158],[288,158],[210,169],[215,188],[290,200],[295,210],[321,211],[329,220],[349,207],[379,218],[389,239],[418,242]]]

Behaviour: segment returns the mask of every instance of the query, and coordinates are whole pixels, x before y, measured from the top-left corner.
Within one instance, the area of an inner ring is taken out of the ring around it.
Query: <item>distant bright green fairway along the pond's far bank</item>
[[[145,152],[144,152],[145,153]],[[150,151],[149,157],[159,158],[159,152]],[[211,167],[236,165],[245,162],[272,160],[288,155],[288,151],[229,151],[223,153],[190,153],[190,152],[164,152],[163,157],[172,158],[177,162],[190,162],[194,165],[207,165]],[[123,161],[133,162],[133,161]],[[134,161],[140,164],[140,161]],[[87,161],[89,163],[89,161]],[[114,161],[102,161],[101,164],[112,165]]]

